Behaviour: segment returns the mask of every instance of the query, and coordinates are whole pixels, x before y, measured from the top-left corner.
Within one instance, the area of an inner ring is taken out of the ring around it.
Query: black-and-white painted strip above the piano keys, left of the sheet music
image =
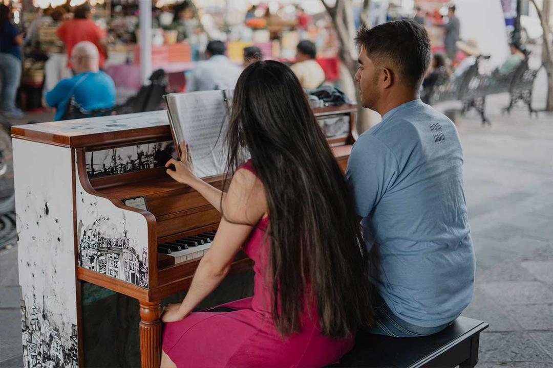
[[[173,141],[86,152],[86,171],[89,178],[128,173],[163,167],[170,158],[176,158]]]

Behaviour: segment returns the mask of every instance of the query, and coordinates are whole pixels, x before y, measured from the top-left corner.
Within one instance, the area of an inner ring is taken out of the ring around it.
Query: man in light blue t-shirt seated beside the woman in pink
[[[423,26],[363,26],[356,42],[362,105],[382,115],[358,138],[346,170],[380,261],[371,332],[429,335],[451,324],[474,291],[461,142],[451,120],[419,99],[430,63]]]

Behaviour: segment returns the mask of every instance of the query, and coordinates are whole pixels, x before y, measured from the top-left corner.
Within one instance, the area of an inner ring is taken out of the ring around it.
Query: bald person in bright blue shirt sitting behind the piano
[[[100,71],[100,54],[89,41],[76,44],[71,51],[75,76],[63,79],[45,95],[48,106],[56,108],[54,120],[61,120],[71,97],[85,110],[111,108],[115,105],[115,83]]]

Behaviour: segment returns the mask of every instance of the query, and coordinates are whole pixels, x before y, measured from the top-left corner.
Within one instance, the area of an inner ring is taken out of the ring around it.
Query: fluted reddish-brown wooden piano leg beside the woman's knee
[[[140,362],[159,368],[161,359],[161,301],[140,301]]]

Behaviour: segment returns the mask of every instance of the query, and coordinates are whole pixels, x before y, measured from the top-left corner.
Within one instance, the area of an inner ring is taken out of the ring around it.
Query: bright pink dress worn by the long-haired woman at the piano
[[[251,161],[242,166],[255,173]],[[301,316],[301,331],[282,338],[271,313],[267,277],[269,218],[252,230],[243,247],[255,264],[253,297],[221,307],[232,312],[196,312],[166,323],[163,351],[178,367],[320,367],[338,361],[353,347],[353,337],[321,335],[316,311]]]

